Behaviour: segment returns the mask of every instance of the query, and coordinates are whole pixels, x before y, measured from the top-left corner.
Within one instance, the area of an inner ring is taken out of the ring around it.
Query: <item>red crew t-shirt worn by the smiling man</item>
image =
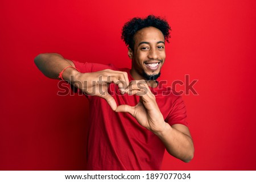
[[[113,64],[102,65],[73,61],[80,72],[96,72],[113,69],[128,73],[129,80],[134,80],[130,69],[115,68]],[[109,85],[117,105],[135,106],[139,96],[116,94],[118,86]],[[162,85],[150,88],[163,117],[170,125],[186,122],[186,109],[181,96],[175,96],[171,89]],[[88,170],[160,170],[165,147],[162,141],[151,131],[139,125],[129,113],[115,113],[108,103],[97,96],[89,99],[90,117],[87,143]]]

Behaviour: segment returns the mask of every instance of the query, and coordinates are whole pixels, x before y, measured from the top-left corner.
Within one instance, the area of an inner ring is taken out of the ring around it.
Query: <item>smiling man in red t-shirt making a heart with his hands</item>
[[[189,162],[193,142],[180,96],[158,84],[171,28],[154,15],[123,26],[131,69],[80,63],[44,53],[35,64],[89,99],[88,170],[159,170],[164,150]]]

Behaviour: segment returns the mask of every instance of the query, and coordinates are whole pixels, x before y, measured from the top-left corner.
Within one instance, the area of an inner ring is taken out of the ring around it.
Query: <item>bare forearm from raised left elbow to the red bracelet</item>
[[[35,57],[35,64],[39,70],[47,77],[57,79],[59,73],[68,66],[73,66],[71,61],[67,61],[57,53],[42,53]],[[67,69],[63,77],[68,77],[75,69]]]

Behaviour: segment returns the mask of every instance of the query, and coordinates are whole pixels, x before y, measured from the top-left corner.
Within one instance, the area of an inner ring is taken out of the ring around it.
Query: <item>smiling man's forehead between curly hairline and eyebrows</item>
[[[136,32],[136,34],[134,35],[134,40],[135,44],[139,44],[140,42],[164,42],[164,35],[158,28],[146,27]]]

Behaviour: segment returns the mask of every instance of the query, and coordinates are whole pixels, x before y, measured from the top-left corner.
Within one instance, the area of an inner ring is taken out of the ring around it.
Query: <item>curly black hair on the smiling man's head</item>
[[[160,16],[148,15],[147,18],[135,17],[129,22],[126,22],[122,28],[121,39],[125,42],[126,46],[129,46],[132,50],[134,49],[134,35],[137,31],[146,27],[158,28],[164,35],[164,39],[169,43],[169,38],[171,38],[169,26],[166,19],[160,18]]]

